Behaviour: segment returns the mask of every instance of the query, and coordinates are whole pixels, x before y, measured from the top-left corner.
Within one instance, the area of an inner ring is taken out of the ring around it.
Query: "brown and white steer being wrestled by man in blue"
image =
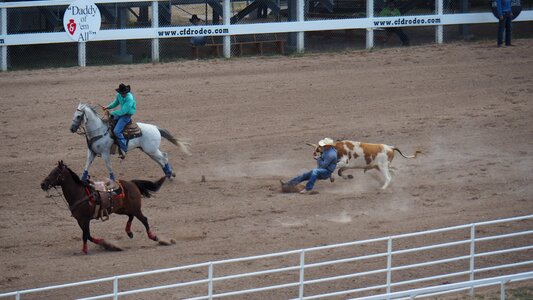
[[[310,144],[315,148],[313,155],[319,157],[322,153],[322,147]],[[337,150],[337,170],[339,176],[342,178],[353,178],[351,175],[343,175],[342,173],[348,169],[363,169],[364,172],[371,169],[377,169],[383,174],[385,184],[381,187],[386,189],[391,182],[390,169],[392,159],[394,158],[394,151],[400,153],[405,158],[416,158],[422,151],[417,150],[413,155],[406,156],[400,149],[385,144],[369,144],[356,141],[337,141],[334,145]],[[330,178],[334,181],[333,175]]]

